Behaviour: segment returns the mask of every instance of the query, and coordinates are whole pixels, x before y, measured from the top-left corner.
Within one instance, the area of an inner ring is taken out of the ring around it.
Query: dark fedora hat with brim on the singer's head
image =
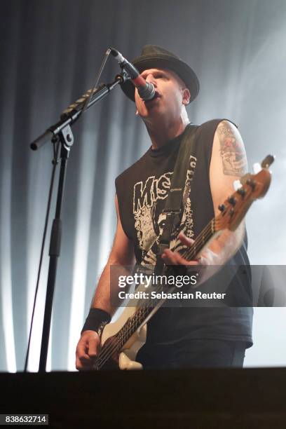
[[[186,88],[191,93],[190,102],[198,95],[200,83],[196,73],[189,67],[186,62],[182,61],[177,55],[174,55],[169,50],[156,45],[146,45],[142,48],[142,54],[132,60],[132,64],[139,70],[140,73],[146,69],[170,69],[184,81]],[[127,81],[121,85],[123,93],[130,100],[135,101],[135,87],[131,81]]]

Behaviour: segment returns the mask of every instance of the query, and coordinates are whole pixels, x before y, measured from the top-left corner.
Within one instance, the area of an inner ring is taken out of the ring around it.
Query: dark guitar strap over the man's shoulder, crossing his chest
[[[189,168],[190,156],[193,153],[196,129],[198,125],[186,125],[184,136],[179,147],[179,153],[175,163],[174,172],[172,174],[170,191],[165,200],[163,213],[166,215],[163,231],[159,237],[158,254],[156,257],[156,266],[154,273],[160,275],[163,269],[163,261],[161,255],[165,249],[170,246],[172,230],[182,219],[184,207],[182,205],[184,186],[186,183],[186,174]]]

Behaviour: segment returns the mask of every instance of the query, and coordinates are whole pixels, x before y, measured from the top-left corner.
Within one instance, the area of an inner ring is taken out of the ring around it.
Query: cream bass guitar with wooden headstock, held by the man
[[[185,259],[191,261],[198,257],[203,248],[224,229],[236,230],[253,201],[262,198],[268,191],[271,183],[271,172],[268,168],[273,161],[273,156],[266,156],[261,163],[261,170],[256,175],[247,173],[240,179],[238,189],[219,205],[220,213],[205,226],[191,247],[182,253]],[[144,290],[144,285],[139,285],[136,291],[140,290]],[[116,322],[102,325],[99,332],[101,348],[94,369],[142,369],[142,365],[136,362],[136,355],[145,343],[146,324],[164,301],[165,299],[160,298],[151,301],[138,299],[135,306],[126,306]]]

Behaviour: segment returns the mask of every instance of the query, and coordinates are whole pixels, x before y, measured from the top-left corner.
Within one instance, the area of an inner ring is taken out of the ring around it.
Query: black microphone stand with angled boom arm
[[[46,372],[46,362],[48,356],[48,341],[50,337],[50,320],[53,309],[53,295],[55,290],[55,278],[57,273],[57,260],[60,257],[60,245],[62,236],[62,200],[64,196],[64,183],[67,172],[67,160],[71,147],[74,144],[74,135],[71,131],[71,124],[74,123],[85,111],[93,104],[104,98],[118,83],[124,83],[128,78],[128,74],[123,70],[118,74],[112,83],[102,84],[95,91],[89,90],[83,97],[77,100],[74,104],[64,111],[60,121],[55,125],[50,126],[46,132],[40,135],[34,142],[30,144],[32,150],[39,149],[49,141],[61,144],[60,151],[60,177],[57,186],[57,202],[55,209],[55,219],[53,219],[52,231],[50,234],[50,262],[48,266],[48,282],[46,290],[45,313],[43,317],[43,332],[41,338],[41,354],[39,361],[39,372]],[[90,95],[92,93],[92,95]],[[88,100],[89,99],[89,100]],[[86,101],[88,100],[88,102]]]

